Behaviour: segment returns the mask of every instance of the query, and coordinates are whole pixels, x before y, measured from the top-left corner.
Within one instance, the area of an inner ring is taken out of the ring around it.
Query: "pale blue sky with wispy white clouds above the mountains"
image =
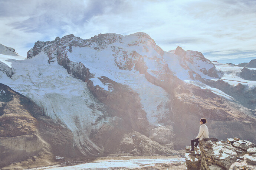
[[[256,58],[256,0],[0,0],[0,43],[24,57],[34,43],[68,34],[144,32],[211,61]]]

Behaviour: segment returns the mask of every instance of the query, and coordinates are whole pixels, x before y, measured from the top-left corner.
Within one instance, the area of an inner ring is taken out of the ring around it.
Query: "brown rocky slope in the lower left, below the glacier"
[[[77,157],[72,138],[30,99],[0,83],[0,168],[22,161],[24,167],[49,165],[58,155]]]

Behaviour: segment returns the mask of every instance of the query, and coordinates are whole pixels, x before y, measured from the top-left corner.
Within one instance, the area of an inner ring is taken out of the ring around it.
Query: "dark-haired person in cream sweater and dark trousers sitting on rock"
[[[188,152],[195,152],[194,150],[194,146],[197,147],[198,143],[199,143],[199,140],[202,140],[204,138],[209,138],[209,131],[208,131],[208,128],[207,126],[205,125],[206,123],[206,119],[205,118],[201,118],[200,119],[200,128],[199,128],[199,133],[196,137],[196,139],[193,139],[191,140],[191,150],[189,150]],[[194,145],[194,142],[196,142],[196,144]]]

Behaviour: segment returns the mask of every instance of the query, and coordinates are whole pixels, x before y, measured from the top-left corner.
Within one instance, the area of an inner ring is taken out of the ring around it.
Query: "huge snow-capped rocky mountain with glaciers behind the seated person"
[[[201,52],[163,51],[145,33],[70,34],[7,62],[0,82],[70,129],[83,155],[170,153],[193,139],[201,117],[213,137],[256,141],[256,81]]]

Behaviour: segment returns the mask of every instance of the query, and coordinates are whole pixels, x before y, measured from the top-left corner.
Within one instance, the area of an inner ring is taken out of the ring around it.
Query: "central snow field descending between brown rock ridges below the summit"
[[[141,51],[137,52],[140,53]],[[167,104],[170,101],[168,93],[161,87],[148,82],[145,76],[138,71],[119,69],[115,64],[112,54],[114,52],[111,47],[105,48],[104,50],[94,50],[88,47],[72,47],[72,53],[68,53],[68,56],[73,62],[82,62],[85,67],[89,68],[91,73],[95,74],[95,78],[91,79],[95,86],[99,85],[105,90],[109,90],[108,86],[98,79],[98,77],[104,75],[115,82],[128,85],[132,90],[137,92],[141,98],[143,109],[147,113],[148,122],[150,125],[157,126],[159,124],[158,120],[164,118],[164,113],[168,112]],[[150,63],[151,61],[153,63]],[[154,59],[149,59],[147,62],[147,64],[150,63],[151,67],[149,68],[159,70],[154,62],[157,63]]]

